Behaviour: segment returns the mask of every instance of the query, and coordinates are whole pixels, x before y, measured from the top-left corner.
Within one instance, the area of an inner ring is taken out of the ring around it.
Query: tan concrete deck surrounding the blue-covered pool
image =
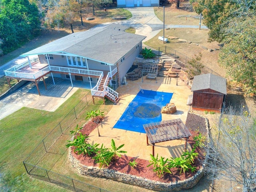
[[[144,82],[142,82],[142,78],[127,82],[127,85],[119,86],[116,89],[119,93],[120,100],[106,114],[104,121],[98,125],[100,137],[98,137],[98,130],[94,129],[90,134],[90,140],[94,141],[94,143],[104,143],[105,147],[109,148],[111,147],[111,139],[114,139],[116,146],[124,144],[122,150],[127,151],[127,156],[150,160],[152,145],[147,146],[146,134],[117,129],[113,128],[113,126],[140,91],[139,86],[145,90],[174,93],[170,102],[175,104],[177,112],[174,114],[162,114],[162,120],[180,118],[184,123],[186,123],[189,109],[189,106],[186,105],[187,99],[192,92],[180,79],[178,79],[178,86],[176,86],[176,78],[157,77],[157,83],[156,80],[148,79],[144,79]],[[158,154],[159,157],[175,158],[182,154],[184,148],[185,139],[157,143],[155,144],[155,156]],[[188,148],[190,148],[189,145]]]

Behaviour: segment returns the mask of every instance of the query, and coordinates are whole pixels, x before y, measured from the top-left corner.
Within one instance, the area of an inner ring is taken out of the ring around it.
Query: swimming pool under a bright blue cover
[[[143,92],[138,92],[113,128],[146,133],[143,124],[162,120],[161,109],[170,102],[173,93]]]

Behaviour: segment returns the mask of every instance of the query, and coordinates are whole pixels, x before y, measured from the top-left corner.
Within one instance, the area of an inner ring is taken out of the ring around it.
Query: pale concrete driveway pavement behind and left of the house
[[[115,23],[123,24],[126,26],[132,26],[136,29],[136,34],[147,36],[144,41],[156,36],[160,30],[163,28],[163,22],[159,20],[154,14],[153,7],[134,7],[126,8],[132,13],[132,18],[124,21],[116,21]],[[110,24],[110,23],[106,23]],[[104,27],[106,24],[100,24],[95,27]],[[199,28],[199,26],[184,26],[184,25],[166,25],[166,28]],[[204,28],[203,26],[201,28]],[[144,42],[143,41],[143,42]],[[0,67],[0,77],[4,76],[4,70],[27,61],[27,58],[18,57],[3,66]],[[16,110],[23,106],[38,108],[42,110],[54,111],[56,107],[60,106],[69,96],[74,93],[77,88],[71,88],[70,84],[66,85],[57,83],[56,85],[47,85],[48,91],[44,90],[44,87],[40,90],[45,93],[42,96],[38,96],[37,90],[32,83],[28,84],[24,88],[20,88],[10,96],[2,99],[0,101],[0,119],[12,114]],[[58,90],[59,89],[59,90]],[[58,96],[58,90],[62,95]],[[52,94],[56,94],[53,96]]]

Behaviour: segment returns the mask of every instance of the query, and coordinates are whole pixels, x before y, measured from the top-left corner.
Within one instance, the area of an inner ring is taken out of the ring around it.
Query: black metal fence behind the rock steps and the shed
[[[175,58],[176,59],[176,63],[186,67],[186,68],[192,68],[192,66],[188,63],[189,61],[192,60],[192,58],[189,58],[188,56],[172,49],[172,48],[169,48],[167,46],[162,46],[162,47],[148,47],[148,46],[145,46],[147,49],[151,49],[156,55],[158,56],[161,56],[163,54],[166,54],[166,55],[170,55],[172,58]],[[142,48],[145,48],[145,47],[142,47]],[[215,74],[215,75],[220,75],[218,74],[217,72],[214,72],[214,70],[204,66],[204,68],[202,68],[201,70],[201,74],[206,74],[206,73],[212,73],[212,74]]]

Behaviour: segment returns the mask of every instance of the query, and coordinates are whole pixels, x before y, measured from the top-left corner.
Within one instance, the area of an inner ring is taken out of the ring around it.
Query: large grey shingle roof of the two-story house
[[[45,44],[21,56],[39,54],[73,54],[92,60],[116,64],[146,36],[124,32],[128,28],[118,24],[76,32]]]

